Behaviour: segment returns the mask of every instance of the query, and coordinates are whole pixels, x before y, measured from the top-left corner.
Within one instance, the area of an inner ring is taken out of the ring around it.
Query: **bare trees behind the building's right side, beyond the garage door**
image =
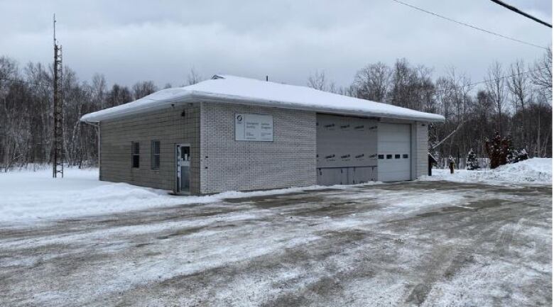
[[[311,74],[308,86],[445,116],[445,123],[429,128],[429,150],[437,158],[463,159],[469,150],[487,157],[487,140],[496,132],[529,157],[552,157],[550,49],[531,63],[493,62],[477,82],[453,67],[435,79],[431,67],[398,59],[392,66],[366,65],[346,87],[336,86],[325,72]]]

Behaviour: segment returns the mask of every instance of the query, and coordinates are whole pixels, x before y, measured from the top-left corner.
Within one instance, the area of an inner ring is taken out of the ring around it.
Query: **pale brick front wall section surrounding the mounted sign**
[[[234,114],[273,115],[273,142],[235,141]],[[315,112],[202,103],[200,191],[315,184]]]

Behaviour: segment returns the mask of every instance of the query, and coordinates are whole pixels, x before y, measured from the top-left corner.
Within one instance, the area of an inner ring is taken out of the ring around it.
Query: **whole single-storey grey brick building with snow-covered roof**
[[[178,194],[410,180],[427,170],[428,123],[413,111],[233,76],[89,113],[100,180]]]

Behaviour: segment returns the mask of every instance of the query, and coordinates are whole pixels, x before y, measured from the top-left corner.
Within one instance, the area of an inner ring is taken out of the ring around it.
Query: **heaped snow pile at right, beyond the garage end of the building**
[[[506,164],[496,169],[470,171],[456,169],[433,169],[433,176],[420,180],[447,180],[450,182],[482,182],[487,184],[552,184],[552,159],[533,158],[514,164]]]

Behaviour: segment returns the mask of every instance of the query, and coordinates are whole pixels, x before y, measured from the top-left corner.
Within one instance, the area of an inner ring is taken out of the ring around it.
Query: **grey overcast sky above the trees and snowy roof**
[[[496,33],[547,46],[550,28],[489,0],[403,0]],[[550,0],[506,0],[545,21]],[[6,1],[0,0],[0,55],[51,62],[52,13],[64,64],[109,84],[153,80],[184,84],[192,67],[204,77],[234,74],[305,85],[316,70],[345,86],[371,62],[398,57],[447,67],[482,81],[494,60],[528,62],[543,50],[415,11],[391,0],[341,1]]]

